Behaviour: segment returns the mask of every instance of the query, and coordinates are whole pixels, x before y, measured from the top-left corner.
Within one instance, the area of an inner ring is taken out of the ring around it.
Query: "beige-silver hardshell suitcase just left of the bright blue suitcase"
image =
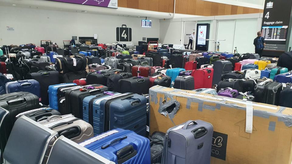
[[[93,137],[92,125],[74,117],[72,114],[53,115],[48,117],[47,120],[39,121],[39,123],[76,143]]]

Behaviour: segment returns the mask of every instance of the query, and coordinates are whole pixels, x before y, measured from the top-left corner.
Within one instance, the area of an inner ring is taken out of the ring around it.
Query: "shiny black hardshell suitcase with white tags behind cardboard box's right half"
[[[260,82],[255,85],[254,101],[271,105],[279,105],[279,97],[282,89],[282,83],[274,81]]]

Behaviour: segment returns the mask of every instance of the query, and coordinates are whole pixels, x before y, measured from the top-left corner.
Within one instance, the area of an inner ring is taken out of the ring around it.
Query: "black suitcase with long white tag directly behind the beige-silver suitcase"
[[[26,117],[32,119],[33,121],[41,121],[43,119],[47,119],[52,115],[61,115],[61,113],[52,108],[38,108],[19,113],[16,115],[16,119],[21,117],[22,115],[25,115]]]

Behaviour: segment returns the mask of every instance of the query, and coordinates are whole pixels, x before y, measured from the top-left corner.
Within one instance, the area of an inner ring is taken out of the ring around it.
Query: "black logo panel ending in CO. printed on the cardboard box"
[[[227,148],[227,134],[213,132],[213,139],[212,139],[212,149],[211,149],[211,156],[222,159],[225,161],[226,159],[226,148]]]

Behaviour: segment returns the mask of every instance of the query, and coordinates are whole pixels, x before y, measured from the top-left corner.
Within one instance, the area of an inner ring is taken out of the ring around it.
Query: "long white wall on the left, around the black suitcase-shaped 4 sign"
[[[40,40],[51,40],[62,46],[62,40],[71,40],[72,36],[92,37],[93,34],[98,34],[98,43],[114,43],[116,27],[122,24],[132,28],[135,45],[142,37],[159,37],[159,19],[152,19],[152,28],[142,28],[141,18],[114,15],[6,6],[0,6],[0,15],[4,18],[0,23],[0,45],[40,45]],[[14,31],[7,30],[7,26]]]

